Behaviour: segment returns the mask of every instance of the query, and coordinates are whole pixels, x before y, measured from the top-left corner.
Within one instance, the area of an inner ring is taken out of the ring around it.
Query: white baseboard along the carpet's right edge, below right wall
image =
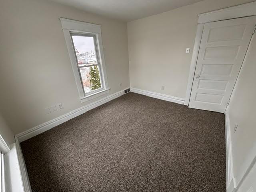
[[[231,129],[228,113],[225,113],[225,133],[226,133],[226,187],[227,192],[234,192],[235,178],[233,172],[233,156],[232,156],[232,141],[231,141]]]

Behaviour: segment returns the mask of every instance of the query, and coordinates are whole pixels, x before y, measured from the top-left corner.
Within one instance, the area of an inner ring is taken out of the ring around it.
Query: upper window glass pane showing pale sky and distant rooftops
[[[72,35],[78,66],[97,64],[94,38]]]

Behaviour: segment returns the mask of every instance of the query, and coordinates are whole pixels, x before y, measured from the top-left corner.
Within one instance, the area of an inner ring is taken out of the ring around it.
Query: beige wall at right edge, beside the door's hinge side
[[[226,113],[230,118],[234,177],[240,182],[256,157],[256,37],[253,36]],[[238,128],[234,133],[234,126]]]

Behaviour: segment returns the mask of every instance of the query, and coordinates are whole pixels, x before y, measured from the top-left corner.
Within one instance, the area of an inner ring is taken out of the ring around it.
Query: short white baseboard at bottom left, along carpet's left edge
[[[15,145],[16,145],[16,152],[17,152],[18,164],[19,164],[19,168],[20,168],[20,176],[21,176],[21,180],[22,180],[23,191],[24,192],[32,192],[30,182],[28,179],[28,172],[27,172],[26,164],[24,161],[22,150],[20,148],[20,141],[18,140],[17,136],[15,136]]]

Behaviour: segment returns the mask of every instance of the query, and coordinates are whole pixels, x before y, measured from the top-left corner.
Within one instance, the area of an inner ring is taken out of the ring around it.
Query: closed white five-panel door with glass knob
[[[255,24],[255,16],[204,24],[190,108],[225,111]]]

